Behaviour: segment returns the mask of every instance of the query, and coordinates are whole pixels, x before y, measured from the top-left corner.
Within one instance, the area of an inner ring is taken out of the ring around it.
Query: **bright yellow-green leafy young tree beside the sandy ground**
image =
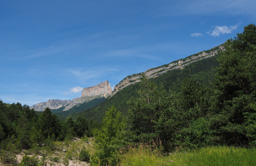
[[[100,129],[95,128],[93,130],[97,143],[95,153],[99,161],[97,163],[101,166],[117,165],[117,150],[121,147],[121,142],[124,139],[123,133],[127,123],[121,113],[117,112],[116,108],[112,106],[106,111],[102,124]]]

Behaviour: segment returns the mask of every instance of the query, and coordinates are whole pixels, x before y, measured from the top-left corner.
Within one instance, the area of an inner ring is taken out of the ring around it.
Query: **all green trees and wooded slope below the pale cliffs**
[[[135,155],[136,148],[168,157],[181,148],[210,146],[243,146],[244,151],[234,156],[250,156],[246,158],[249,164],[239,165],[255,165],[255,41],[256,26],[250,24],[227,40],[218,56],[153,79],[143,74],[140,83],[65,121],[49,108],[37,113],[27,105],[0,100],[1,162],[17,164],[15,153],[21,149],[40,151],[42,143],[54,150],[55,141],[93,136],[96,152],[88,158],[85,148],[80,151],[91,165],[132,165],[122,159],[126,154]],[[210,151],[207,153],[214,149]],[[77,159],[75,155],[70,158]]]

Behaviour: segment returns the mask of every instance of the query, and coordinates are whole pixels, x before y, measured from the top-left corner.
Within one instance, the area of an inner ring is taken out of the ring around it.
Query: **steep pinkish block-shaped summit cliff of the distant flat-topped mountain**
[[[98,85],[84,88],[82,90],[82,96],[81,97],[89,97],[89,96],[97,96],[97,95],[104,95],[104,97],[107,97],[111,94],[112,90],[109,85],[108,81],[102,82]]]

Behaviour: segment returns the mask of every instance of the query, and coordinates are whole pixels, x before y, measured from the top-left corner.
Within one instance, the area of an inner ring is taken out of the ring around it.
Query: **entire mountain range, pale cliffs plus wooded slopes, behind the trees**
[[[216,60],[216,55],[218,50],[221,49],[223,49],[223,44],[213,47],[212,49],[190,55],[184,59],[179,59],[159,67],[150,68],[144,73],[148,78],[153,79],[157,85],[163,84],[167,91],[172,90],[179,92],[180,85],[186,77],[193,77],[204,86],[209,87],[211,86],[211,80],[214,75],[214,70],[212,69],[219,65]],[[93,87],[84,88],[80,98],[75,98],[72,101],[56,100],[54,102],[54,100],[49,100],[47,101],[48,103],[44,102],[36,104],[34,108],[40,107],[41,111],[43,111],[48,104],[47,107],[52,108],[52,112],[62,116],[63,119],[72,114],[73,118],[81,115],[89,119],[93,118],[94,120],[101,121],[105,111],[107,111],[112,105],[114,105],[117,110],[121,111],[123,114],[127,114],[129,106],[126,104],[126,101],[132,96],[137,96],[136,90],[140,87],[139,79],[141,76],[142,73],[137,73],[125,77],[114,87],[112,93],[108,81],[105,81]],[[106,100],[101,97],[106,98]],[[91,103],[89,104],[88,101],[91,101]],[[66,102],[66,104],[61,104],[61,102]],[[86,104],[81,105],[85,102],[87,102],[90,107],[87,107]],[[33,106],[31,106],[31,108],[33,108]],[[62,112],[67,110],[70,111]]]

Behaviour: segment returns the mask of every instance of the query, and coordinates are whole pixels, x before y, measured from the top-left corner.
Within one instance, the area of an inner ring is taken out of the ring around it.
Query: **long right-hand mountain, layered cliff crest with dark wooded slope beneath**
[[[223,49],[222,44],[210,50],[190,55],[184,59],[148,69],[145,73],[156,85],[160,86],[163,84],[167,92],[169,90],[180,92],[180,86],[184,78],[194,78],[205,87],[211,87],[215,69],[219,66],[217,51],[220,49]],[[101,122],[105,112],[112,105],[122,112],[123,115],[126,115],[129,108],[129,105],[126,104],[127,100],[130,100],[132,96],[138,97],[136,91],[140,88],[139,78],[141,75],[142,73],[138,73],[125,77],[115,86],[112,95],[105,101],[93,108],[72,115],[72,117],[76,119],[80,115]]]

